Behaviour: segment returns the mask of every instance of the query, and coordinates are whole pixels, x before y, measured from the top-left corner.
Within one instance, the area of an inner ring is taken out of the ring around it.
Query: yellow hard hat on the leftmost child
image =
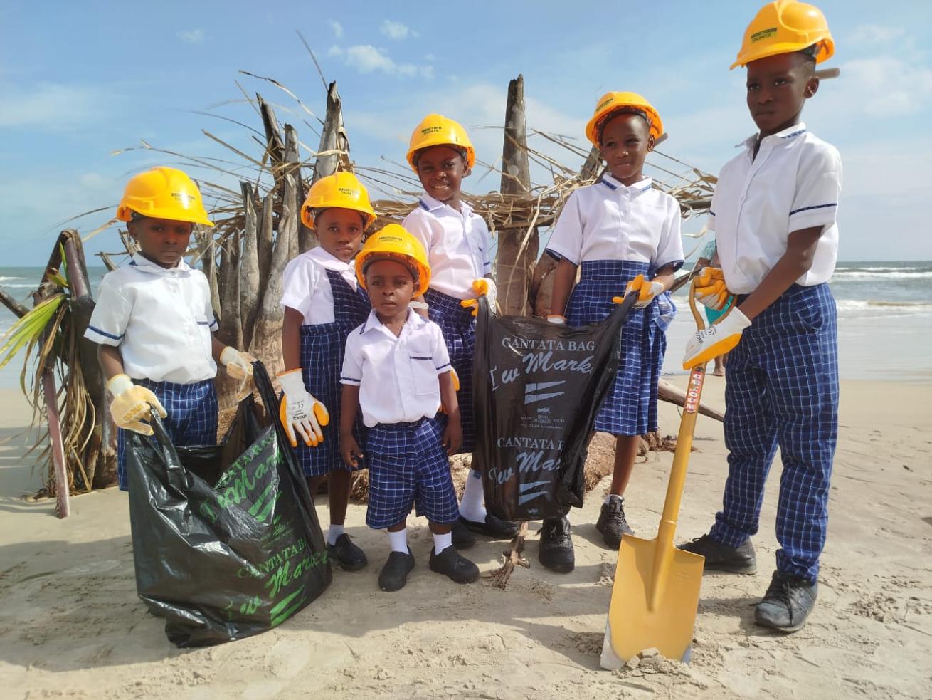
[[[130,221],[133,212],[144,217],[213,226],[207,218],[198,186],[186,173],[175,168],[159,166],[130,178],[117,206],[117,218]]]

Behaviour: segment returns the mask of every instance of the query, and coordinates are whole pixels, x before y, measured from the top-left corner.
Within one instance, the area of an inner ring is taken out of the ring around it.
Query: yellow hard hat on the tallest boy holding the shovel
[[[835,53],[829,22],[815,5],[797,0],[776,0],[761,7],[745,30],[737,60],[729,67],[747,65],[778,53],[792,53],[816,44],[816,63]]]

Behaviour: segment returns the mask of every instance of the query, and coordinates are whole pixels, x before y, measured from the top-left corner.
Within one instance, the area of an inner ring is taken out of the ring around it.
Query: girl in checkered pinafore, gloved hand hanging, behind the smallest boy
[[[336,173],[310,188],[301,220],[317,232],[321,245],[291,260],[282,277],[281,424],[311,495],[328,479],[327,551],[340,567],[355,571],[366,558],[343,531],[352,472],[339,451],[340,368],[349,331],[369,315],[369,297],[357,283],[353,258],[376,213],[356,175]],[[362,421],[354,429],[362,440]]]

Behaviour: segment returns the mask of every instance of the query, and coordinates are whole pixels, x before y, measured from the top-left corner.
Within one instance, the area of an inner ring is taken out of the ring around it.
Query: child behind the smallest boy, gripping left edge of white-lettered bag
[[[473,353],[476,297],[486,295],[495,308],[495,282],[489,259],[486,222],[462,200],[462,178],[470,175],[475,150],[466,130],[440,114],[425,117],[411,134],[407,161],[418,174],[424,194],[402,225],[427,249],[431,287],[423,301],[427,315],[444,331],[453,369],[459,376],[462,452],[473,451]],[[418,301],[419,303],[419,301]],[[510,539],[517,525],[486,510],[480,474],[471,469],[459,505],[453,543],[469,547],[473,532]]]

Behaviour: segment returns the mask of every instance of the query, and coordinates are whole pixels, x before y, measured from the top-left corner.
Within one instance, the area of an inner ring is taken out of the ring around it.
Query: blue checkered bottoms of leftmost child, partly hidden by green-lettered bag
[[[175,447],[217,443],[217,390],[212,379],[193,384],[153,382],[133,379],[132,383],[152,391],[168,413],[162,423]],[[130,490],[126,471],[126,430],[117,429],[117,483],[120,491]]]

